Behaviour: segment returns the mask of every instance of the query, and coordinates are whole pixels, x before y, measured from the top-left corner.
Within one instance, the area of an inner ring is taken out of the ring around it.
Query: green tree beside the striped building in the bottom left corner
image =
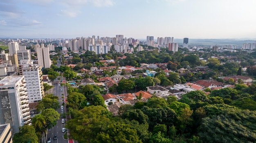
[[[36,130],[33,126],[24,125],[19,127],[19,132],[14,134],[13,143],[38,143]]]

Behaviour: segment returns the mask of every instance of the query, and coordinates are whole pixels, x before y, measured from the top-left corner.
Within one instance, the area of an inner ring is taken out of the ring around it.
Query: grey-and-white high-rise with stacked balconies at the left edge
[[[10,124],[12,133],[31,125],[27,88],[24,76],[7,76],[0,80],[0,123]]]

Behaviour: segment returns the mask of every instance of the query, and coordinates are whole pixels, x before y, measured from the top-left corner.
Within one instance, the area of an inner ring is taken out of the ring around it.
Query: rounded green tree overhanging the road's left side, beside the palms
[[[55,111],[53,108],[48,108],[45,109],[41,112],[41,114],[43,116],[45,116],[45,124],[46,124],[46,128],[50,129],[53,126],[56,125],[56,121],[58,119],[60,119],[60,114],[58,113],[58,111]]]

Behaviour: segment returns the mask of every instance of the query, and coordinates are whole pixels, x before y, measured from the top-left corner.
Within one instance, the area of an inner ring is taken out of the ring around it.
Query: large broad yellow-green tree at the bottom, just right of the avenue
[[[92,142],[98,133],[106,132],[110,128],[108,125],[113,125],[109,119],[112,114],[103,106],[89,106],[79,111],[73,110],[71,115],[72,119],[67,121],[66,128],[70,131],[70,139],[79,143]]]

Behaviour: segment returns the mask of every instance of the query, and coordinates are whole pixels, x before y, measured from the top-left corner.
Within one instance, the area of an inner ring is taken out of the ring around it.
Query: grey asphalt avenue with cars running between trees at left
[[[65,86],[63,86],[63,88],[62,88],[63,91],[61,91],[61,86],[58,86],[58,84],[56,84],[57,82],[59,83],[58,78],[56,80],[54,80],[54,84],[53,84],[54,88],[52,90],[52,93],[53,93],[54,96],[58,96],[59,103],[60,103],[60,106],[61,106],[61,104],[63,104],[63,102],[64,102],[63,101],[64,99],[61,98],[61,96],[63,96],[62,94],[64,94],[64,97],[67,97],[67,89],[66,89]],[[61,81],[63,81],[62,78],[60,79],[60,84],[61,84]],[[62,115],[61,108],[58,108],[57,111],[60,115]],[[66,113],[66,108],[65,107],[64,107],[64,113]],[[66,119],[65,119],[65,121],[66,121]],[[57,121],[56,126],[54,126],[52,129],[48,130],[47,139],[49,137],[52,138],[52,143],[67,143],[68,141],[63,139],[64,133],[62,132],[62,128],[65,128],[65,123],[64,124],[61,123],[61,117],[60,117],[60,119]],[[57,135],[56,140],[53,139],[54,134]]]

